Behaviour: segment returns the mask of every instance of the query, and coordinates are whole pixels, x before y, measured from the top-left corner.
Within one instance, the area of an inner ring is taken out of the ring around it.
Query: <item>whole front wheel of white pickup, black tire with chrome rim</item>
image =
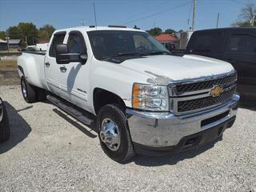
[[[98,138],[102,150],[116,162],[126,162],[134,156],[126,115],[117,105],[106,105],[98,112]]]

